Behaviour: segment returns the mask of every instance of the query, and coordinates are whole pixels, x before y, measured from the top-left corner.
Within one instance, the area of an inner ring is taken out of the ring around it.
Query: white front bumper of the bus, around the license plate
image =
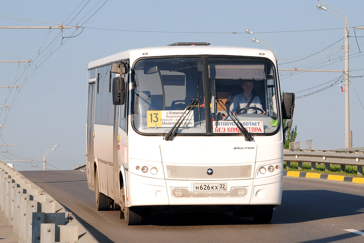
[[[128,173],[127,206],[280,205],[283,173],[221,181],[154,179]],[[226,191],[194,191],[197,184],[226,184]]]

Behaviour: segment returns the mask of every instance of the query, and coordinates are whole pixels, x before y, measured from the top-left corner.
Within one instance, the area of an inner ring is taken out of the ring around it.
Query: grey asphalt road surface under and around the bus
[[[154,214],[127,226],[120,211],[96,211],[84,171],[21,171],[100,242],[364,242],[364,185],[284,177],[282,205],[270,224],[232,213]],[[360,232],[359,232],[360,233]]]

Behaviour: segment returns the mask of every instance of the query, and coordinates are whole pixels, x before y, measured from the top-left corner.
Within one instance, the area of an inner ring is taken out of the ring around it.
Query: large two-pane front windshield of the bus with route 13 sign
[[[275,72],[268,59],[141,59],[132,72],[134,127],[165,134],[182,120],[177,133],[241,135],[237,121],[255,135],[274,133],[280,126]]]

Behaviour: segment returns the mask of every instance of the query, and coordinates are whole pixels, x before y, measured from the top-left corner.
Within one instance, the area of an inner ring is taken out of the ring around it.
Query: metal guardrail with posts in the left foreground
[[[19,242],[98,242],[58,201],[1,161],[0,210]]]

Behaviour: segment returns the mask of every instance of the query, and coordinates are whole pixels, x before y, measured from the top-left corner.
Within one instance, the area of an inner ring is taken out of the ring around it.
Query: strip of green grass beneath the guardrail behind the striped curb
[[[289,169],[286,168],[286,162],[284,162],[283,169],[285,171],[298,171],[298,162],[291,162],[291,166]],[[313,173],[320,173],[320,174],[330,174],[330,175],[341,175],[341,176],[352,176],[352,177],[364,177],[358,176],[357,166],[347,165],[345,167],[345,172],[341,173],[340,165],[330,165],[330,170],[326,171],[325,164],[316,164],[316,169],[311,170],[311,163],[303,163],[302,170],[303,172],[313,172]]]

